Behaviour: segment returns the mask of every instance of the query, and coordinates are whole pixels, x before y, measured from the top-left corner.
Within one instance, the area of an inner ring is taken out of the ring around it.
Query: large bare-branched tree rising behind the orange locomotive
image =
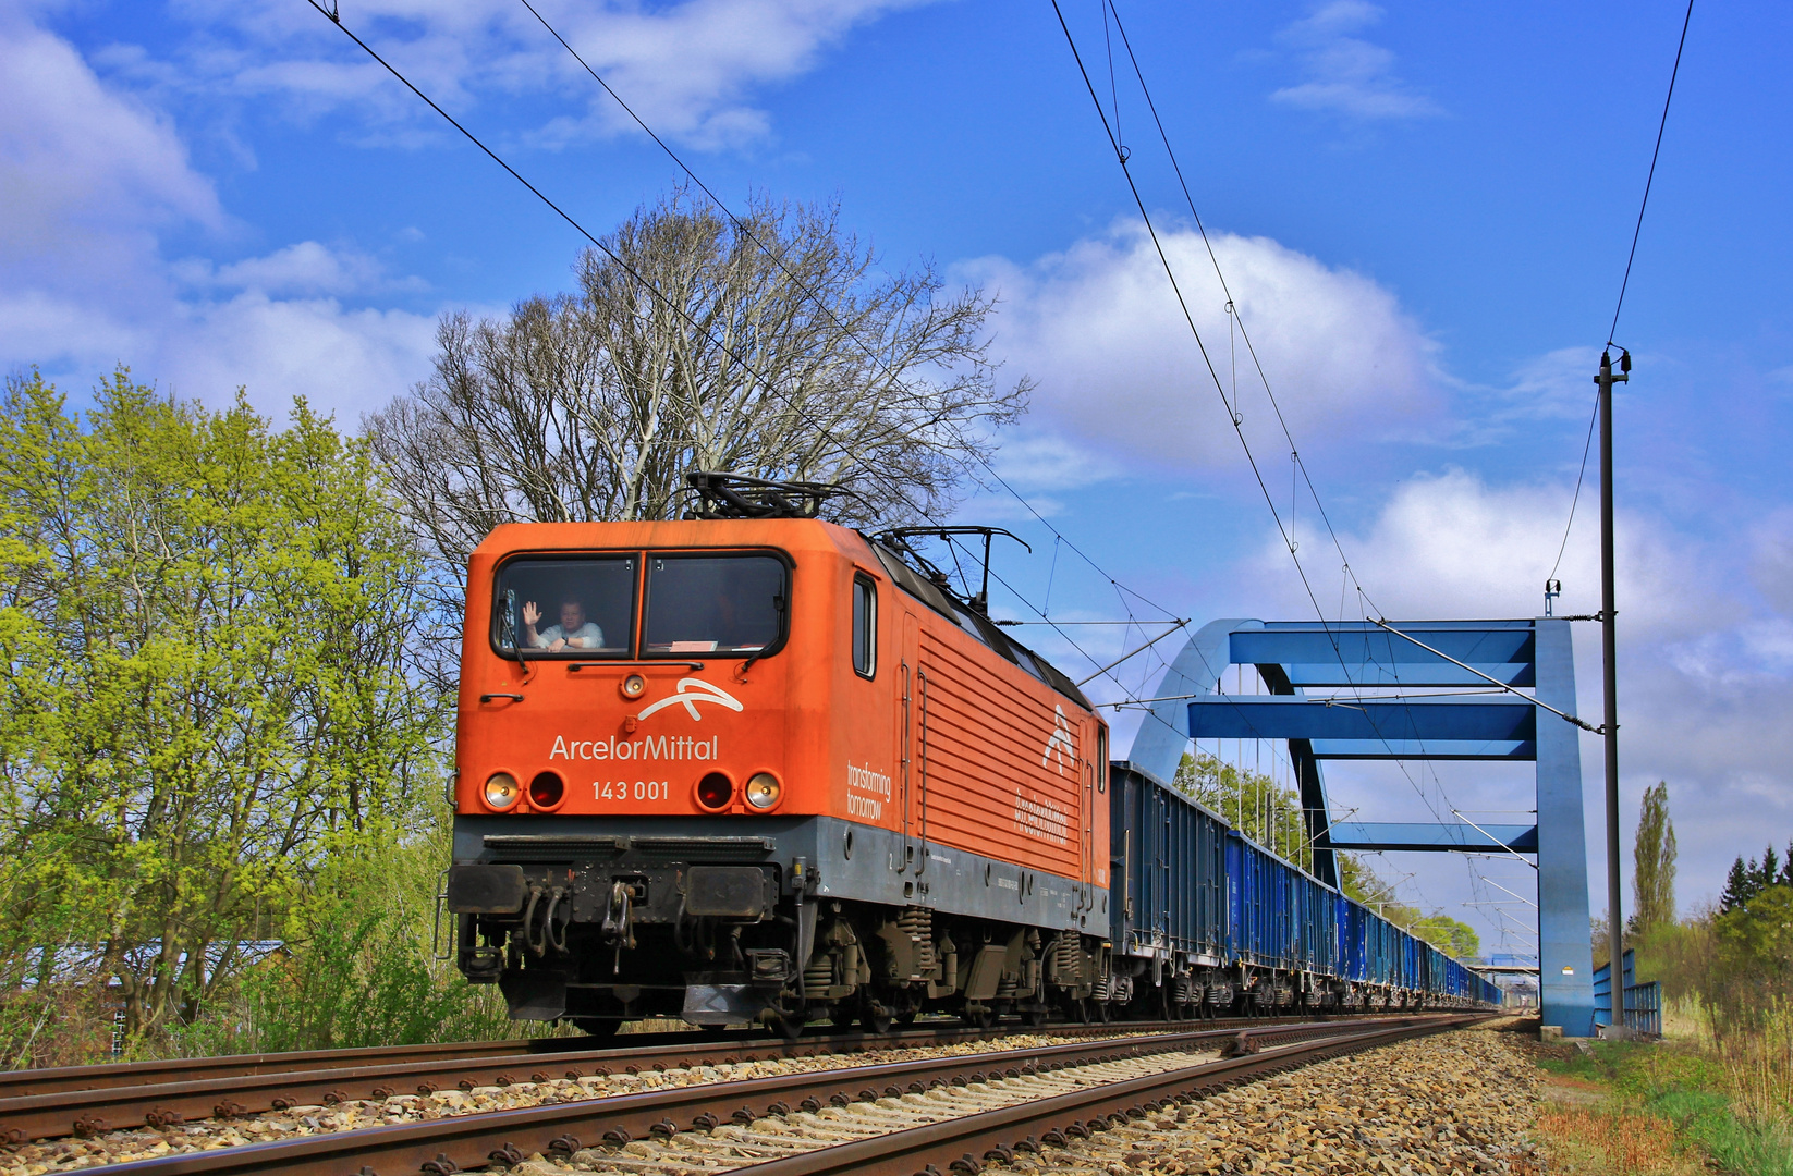
[[[737,224],[683,188],[576,265],[579,290],[445,316],[436,373],[369,430],[455,574],[497,523],[676,518],[685,473],[841,482],[843,514],[948,507],[997,425],[981,290],[882,274],[839,206],[766,197]]]

